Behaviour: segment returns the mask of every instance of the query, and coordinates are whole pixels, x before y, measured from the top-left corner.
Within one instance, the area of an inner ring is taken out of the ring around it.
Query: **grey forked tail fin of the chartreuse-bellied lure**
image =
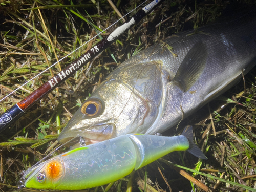
[[[196,143],[193,142],[193,129],[192,126],[185,127],[184,131],[182,132],[183,136],[185,136],[189,142],[189,148],[188,152],[192,155],[195,155],[196,157],[199,157],[201,159],[208,159],[203,152],[198,148]]]

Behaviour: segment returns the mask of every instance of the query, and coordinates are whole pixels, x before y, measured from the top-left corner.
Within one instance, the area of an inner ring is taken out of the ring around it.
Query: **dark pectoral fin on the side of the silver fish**
[[[197,42],[182,61],[174,79],[174,83],[185,92],[193,86],[202,74],[208,56],[207,46],[203,41]]]

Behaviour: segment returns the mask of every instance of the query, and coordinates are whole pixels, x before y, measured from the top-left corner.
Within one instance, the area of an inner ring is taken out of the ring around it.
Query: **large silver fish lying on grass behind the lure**
[[[80,136],[92,144],[130,133],[162,133],[237,84],[255,61],[252,12],[174,34],[110,73],[58,141]]]

